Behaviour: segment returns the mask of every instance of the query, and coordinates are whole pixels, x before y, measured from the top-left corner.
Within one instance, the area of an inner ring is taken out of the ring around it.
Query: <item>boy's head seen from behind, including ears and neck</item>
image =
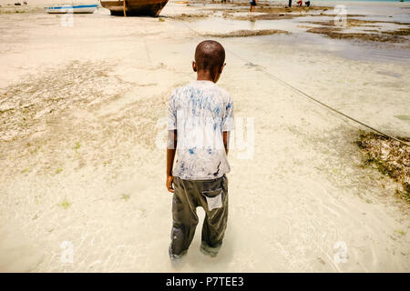
[[[218,82],[225,66],[225,49],[214,40],[205,40],[195,49],[195,61],[192,69],[199,79],[209,79]]]

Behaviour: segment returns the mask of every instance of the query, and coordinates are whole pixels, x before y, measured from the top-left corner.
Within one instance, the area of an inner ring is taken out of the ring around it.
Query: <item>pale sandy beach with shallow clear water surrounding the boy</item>
[[[410,271],[410,204],[395,196],[400,183],[364,166],[366,128],[275,79],[409,137],[410,39],[395,33],[410,27],[408,2],[344,3],[372,23],[343,32],[375,40],[322,33],[317,22],[334,17],[324,2],[249,15],[248,5],[170,1],[159,18],[98,8],[73,26],[41,9],[51,3],[9,13],[0,2],[0,271]],[[226,37],[268,29],[285,33]],[[197,228],[175,269],[167,105],[195,79],[204,38],[227,50],[218,85],[236,106],[229,223],[218,257],[200,253]]]

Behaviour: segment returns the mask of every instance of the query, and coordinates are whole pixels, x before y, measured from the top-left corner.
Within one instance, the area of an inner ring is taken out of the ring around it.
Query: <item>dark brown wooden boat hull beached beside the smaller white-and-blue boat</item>
[[[107,8],[111,15],[157,17],[168,0],[101,0],[101,5]]]

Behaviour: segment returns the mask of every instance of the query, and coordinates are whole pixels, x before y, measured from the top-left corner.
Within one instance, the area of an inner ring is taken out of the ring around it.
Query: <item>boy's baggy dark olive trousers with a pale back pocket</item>
[[[196,208],[205,210],[201,247],[218,248],[222,244],[228,219],[228,179],[183,180],[174,176],[172,231],[169,254],[186,252],[198,225]]]

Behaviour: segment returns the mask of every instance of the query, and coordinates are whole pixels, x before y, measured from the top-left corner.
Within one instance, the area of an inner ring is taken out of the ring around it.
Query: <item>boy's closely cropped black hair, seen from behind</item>
[[[204,40],[195,49],[195,63],[199,71],[211,71],[225,62],[225,49],[214,40]]]

